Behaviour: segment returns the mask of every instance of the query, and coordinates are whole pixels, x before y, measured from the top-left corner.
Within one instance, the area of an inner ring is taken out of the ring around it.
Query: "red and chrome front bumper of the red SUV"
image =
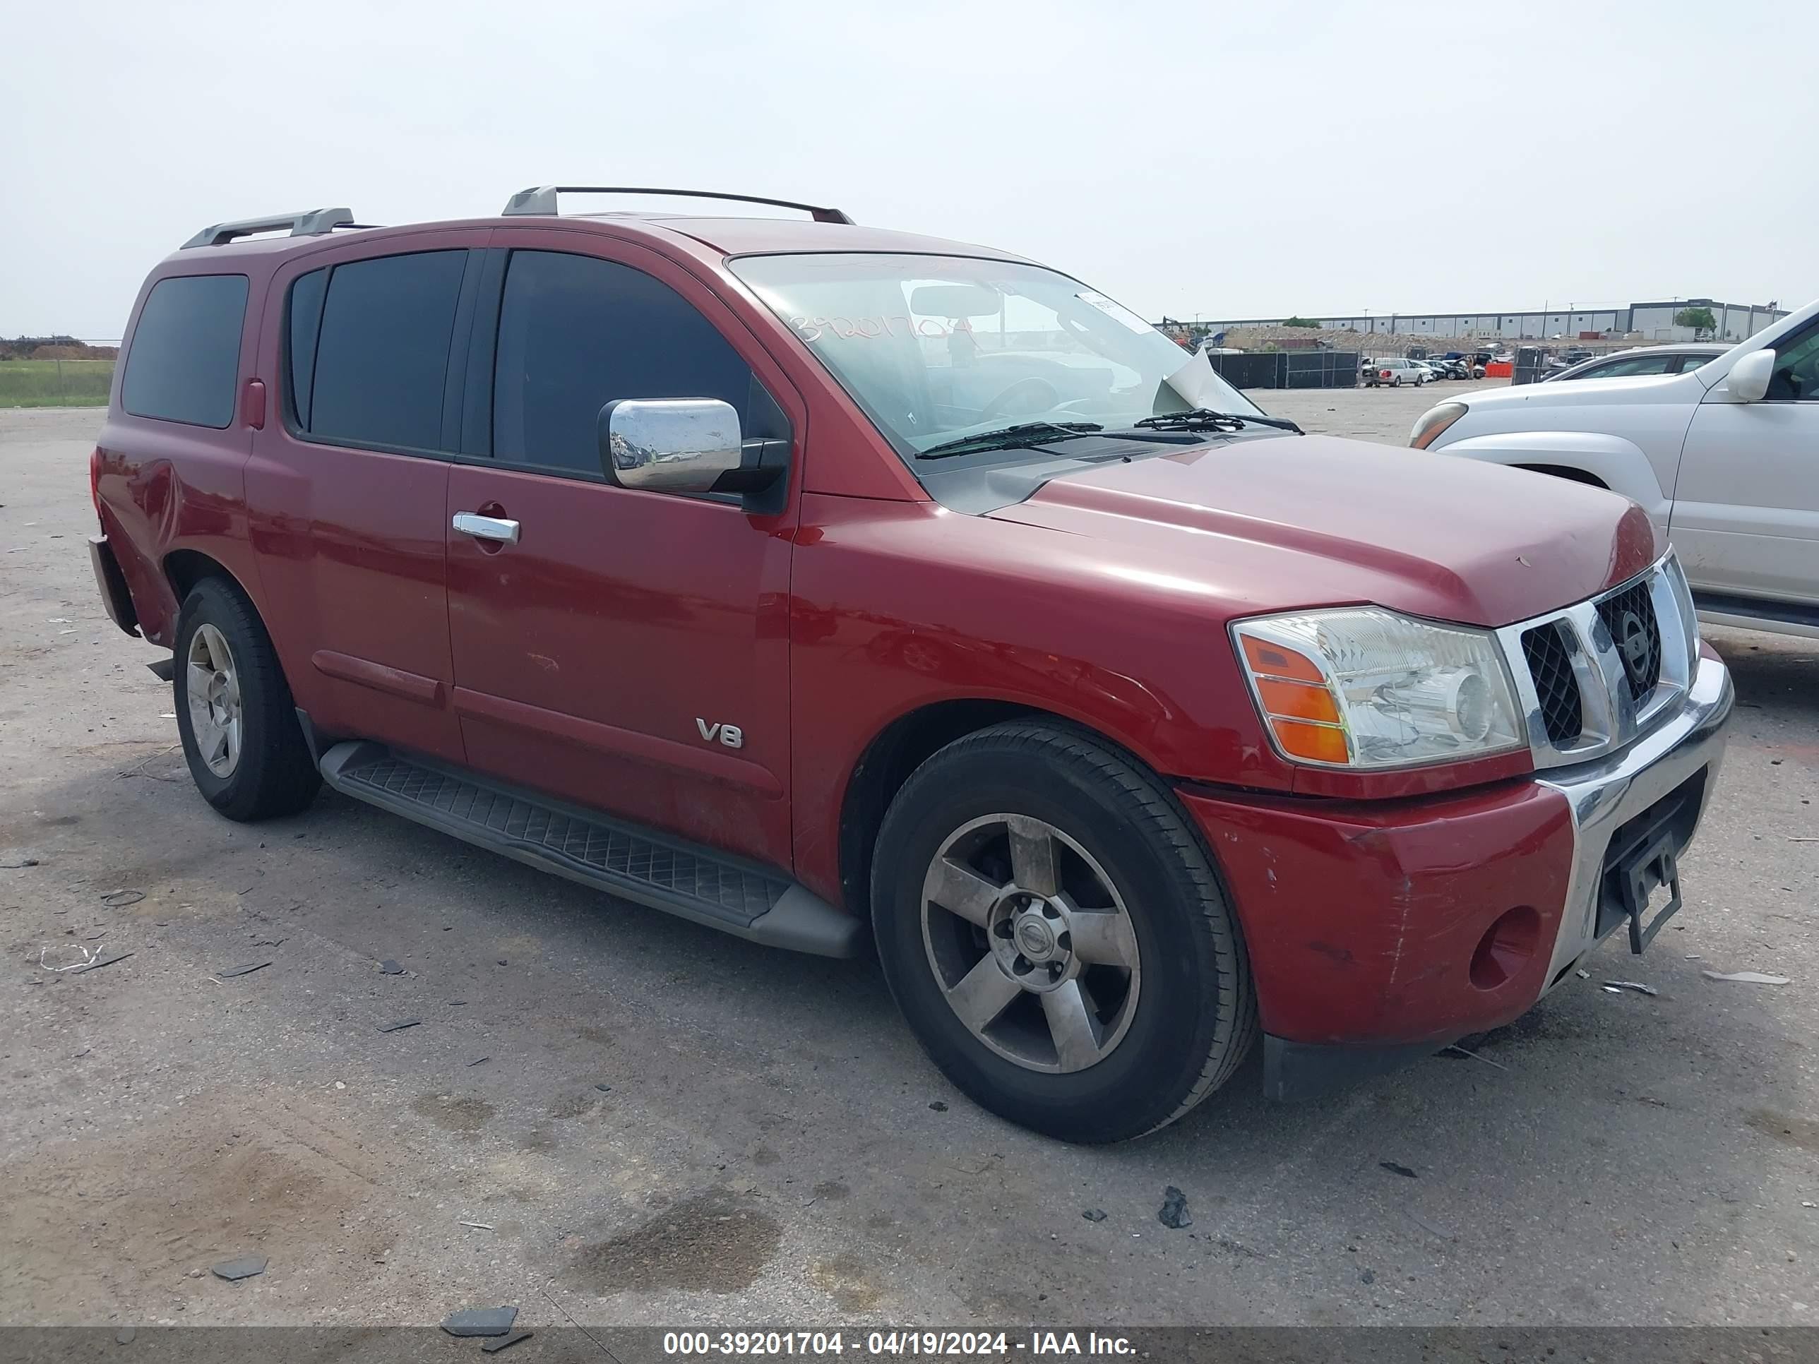
[[[1288,1098],[1499,1028],[1624,917],[1606,858],[1692,840],[1724,753],[1730,673],[1701,646],[1681,706],[1603,758],[1393,802],[1184,789],[1233,895]]]

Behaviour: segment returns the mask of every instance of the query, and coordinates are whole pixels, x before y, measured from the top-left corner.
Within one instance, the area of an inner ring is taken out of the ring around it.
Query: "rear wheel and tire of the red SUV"
[[[204,578],[176,618],[176,733],[202,798],[231,820],[295,815],[322,775],[253,604]]]

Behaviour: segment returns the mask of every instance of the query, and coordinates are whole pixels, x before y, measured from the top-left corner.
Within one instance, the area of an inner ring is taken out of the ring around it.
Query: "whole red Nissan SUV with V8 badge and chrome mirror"
[[[1679,909],[1732,684],[1633,504],[1302,435],[1020,256],[578,191],[146,280],[95,573],[227,818],[327,782],[869,929],[940,1069],[1082,1142],[1259,1033],[1273,1097],[1428,1055]]]

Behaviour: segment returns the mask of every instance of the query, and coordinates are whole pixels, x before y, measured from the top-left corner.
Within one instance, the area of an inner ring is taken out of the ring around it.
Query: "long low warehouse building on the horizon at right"
[[[1717,327],[1695,335],[1681,327],[1673,315],[1683,307],[1710,307]],[[1502,313],[1337,313],[1304,315],[1330,331],[1397,333],[1402,336],[1486,336],[1502,340],[1544,340],[1550,336],[1630,336],[1652,342],[1726,340],[1754,336],[1770,322],[1784,318],[1788,309],[1775,304],[1721,304],[1713,298],[1673,298],[1626,307],[1575,306],[1564,309],[1508,309]],[[1279,327],[1286,318],[1239,318],[1231,322],[1201,322],[1210,331],[1233,327]]]

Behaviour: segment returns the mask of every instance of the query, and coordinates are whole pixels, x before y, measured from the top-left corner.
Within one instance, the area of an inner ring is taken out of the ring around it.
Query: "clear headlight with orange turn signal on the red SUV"
[[[1490,631],[1377,606],[1231,626],[1282,757],[1322,767],[1408,767],[1526,744]]]

